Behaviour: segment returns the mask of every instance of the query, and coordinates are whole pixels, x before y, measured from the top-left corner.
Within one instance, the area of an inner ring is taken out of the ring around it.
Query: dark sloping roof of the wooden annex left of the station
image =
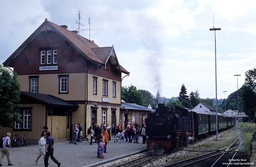
[[[25,91],[20,91],[22,95],[29,96],[33,99],[39,100],[43,103],[49,104],[49,105],[54,105],[54,106],[68,106],[68,107],[78,107],[75,103],[57,98],[52,95],[46,95],[46,94],[41,94],[41,93],[32,93],[32,92],[25,92]]]

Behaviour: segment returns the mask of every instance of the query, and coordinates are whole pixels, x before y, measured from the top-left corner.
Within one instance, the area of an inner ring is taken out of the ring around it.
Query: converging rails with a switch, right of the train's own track
[[[248,130],[248,128],[250,127],[250,129]],[[202,162],[203,161],[207,161],[207,166],[230,166],[234,160],[234,156],[236,155],[238,151],[238,149],[241,147],[244,139],[246,138],[247,134],[249,133],[249,131],[251,130],[252,124],[250,126],[248,126],[243,133],[230,145],[219,149],[219,150],[215,150],[215,151],[211,151],[208,152],[207,154],[203,154],[203,155],[199,155],[193,158],[189,158],[183,161],[179,161],[179,162],[175,162],[175,163],[171,163],[165,166],[161,166],[161,167],[169,167],[169,166],[173,166],[173,167],[181,167],[181,166],[202,166]],[[248,130],[247,134],[245,134],[245,132]],[[242,135],[245,134],[245,137],[243,138],[243,140],[240,140],[241,142],[239,142],[239,144],[235,144],[238,139],[240,139],[242,137]],[[227,154],[228,153],[228,154]],[[227,162],[227,160],[229,160],[229,162]],[[223,164],[226,163],[226,164]],[[203,163],[205,164],[205,162]]]

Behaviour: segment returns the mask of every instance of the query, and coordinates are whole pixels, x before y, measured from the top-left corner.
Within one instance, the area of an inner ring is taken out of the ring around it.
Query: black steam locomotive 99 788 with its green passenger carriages
[[[169,107],[158,104],[153,113],[145,119],[147,148],[164,150],[182,147],[188,140],[195,140],[203,134],[211,134],[218,130],[235,125],[235,117],[184,107]]]

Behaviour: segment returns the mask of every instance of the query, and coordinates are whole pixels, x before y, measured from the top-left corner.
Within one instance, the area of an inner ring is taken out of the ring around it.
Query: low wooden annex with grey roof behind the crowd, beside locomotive
[[[142,126],[142,124],[145,123],[147,114],[155,112],[155,110],[148,107],[143,107],[133,103],[126,103],[123,100],[120,111],[121,117],[123,118],[121,121],[122,127],[125,127],[126,125],[131,126],[135,122],[137,122],[139,126]]]

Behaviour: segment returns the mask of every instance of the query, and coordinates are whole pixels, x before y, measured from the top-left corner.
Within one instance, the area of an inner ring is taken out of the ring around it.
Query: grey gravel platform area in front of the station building
[[[142,139],[142,138],[140,138]],[[89,141],[78,142],[77,145],[68,143],[69,141],[54,142],[54,157],[61,162],[61,167],[81,167],[92,163],[100,162],[106,159],[115,158],[120,155],[129,154],[139,150],[146,149],[146,144],[140,143],[114,143],[114,138],[107,144],[107,153],[104,159],[97,158],[98,145],[90,145]],[[94,142],[94,140],[93,140]],[[43,158],[40,157],[39,165],[36,165],[34,161],[39,155],[38,145],[29,144],[27,146],[10,148],[10,155],[13,167],[39,167],[44,166]],[[57,167],[49,158],[49,167]],[[3,166],[7,166],[7,158],[4,157],[2,161]]]

